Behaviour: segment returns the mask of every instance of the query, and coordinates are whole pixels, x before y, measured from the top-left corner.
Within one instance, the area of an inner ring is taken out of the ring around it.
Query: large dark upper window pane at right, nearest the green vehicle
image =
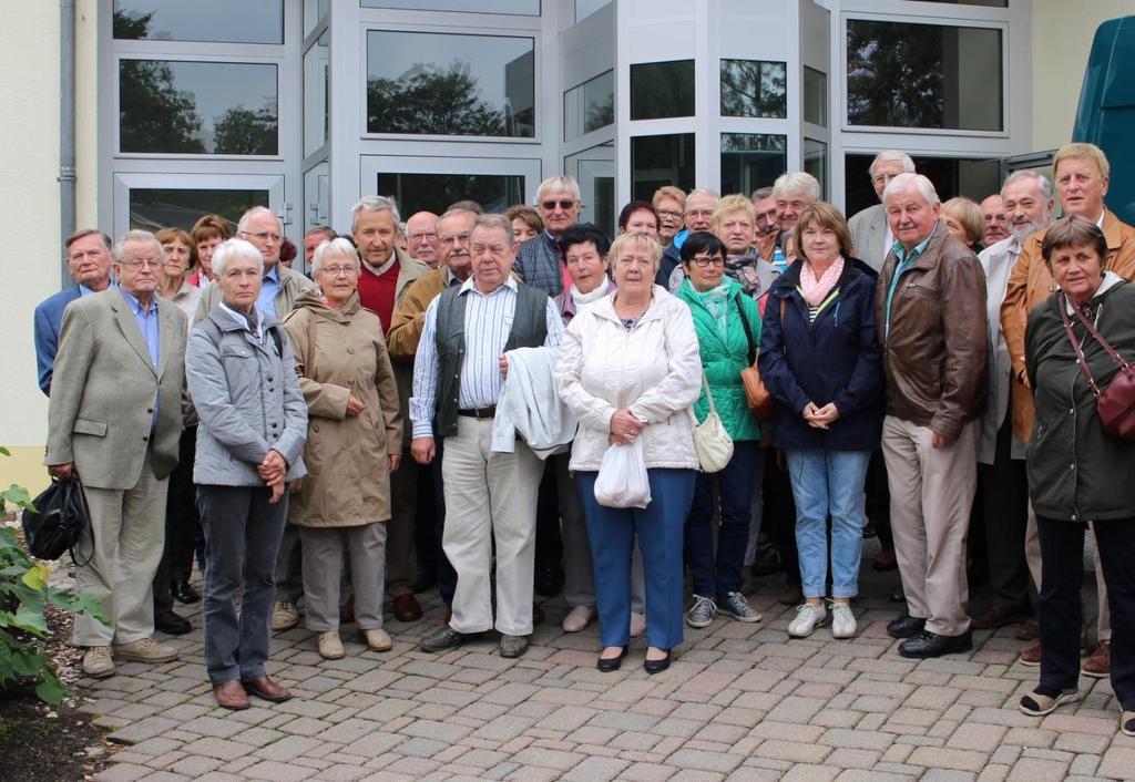
[[[848,20],[848,123],[1000,131],[1001,31]]]

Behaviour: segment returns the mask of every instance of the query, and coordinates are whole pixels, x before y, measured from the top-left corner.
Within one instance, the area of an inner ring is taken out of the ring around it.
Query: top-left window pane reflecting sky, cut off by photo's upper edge
[[[283,0],[115,0],[118,40],[284,43]]]

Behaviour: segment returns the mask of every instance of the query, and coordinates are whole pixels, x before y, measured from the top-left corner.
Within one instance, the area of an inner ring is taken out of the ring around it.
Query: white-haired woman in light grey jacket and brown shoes
[[[185,378],[201,419],[193,480],[205,531],[205,669],[218,705],[242,709],[249,692],[292,697],[264,661],[285,487],[306,472],[308,405],[287,333],[257,309],[263,255],[228,239],[212,260],[220,302],[190,333]]]

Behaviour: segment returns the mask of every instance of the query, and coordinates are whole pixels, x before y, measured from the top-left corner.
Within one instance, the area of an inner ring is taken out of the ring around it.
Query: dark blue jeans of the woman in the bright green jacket
[[[686,564],[693,577],[693,594],[724,598],[741,591],[741,567],[753,516],[753,474],[759,446],[756,440],[733,443],[733,457],[721,472],[697,473],[693,504],[686,522]],[[717,557],[713,550],[714,484],[721,479],[721,531]]]

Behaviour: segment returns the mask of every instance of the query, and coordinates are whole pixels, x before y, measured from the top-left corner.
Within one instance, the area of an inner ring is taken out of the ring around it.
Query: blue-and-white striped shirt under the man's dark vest
[[[461,362],[461,388],[457,407],[489,407],[501,395],[504,378],[497,359],[504,354],[504,346],[512,333],[512,319],[516,311],[516,280],[508,277],[505,284],[489,294],[484,294],[469,278],[461,286],[465,302],[465,354]],[[434,414],[437,397],[437,302],[434,298],[426,309],[426,326],[422,328],[418,353],[414,356],[414,390],[410,397],[410,420],[414,437],[434,436]],[[544,344],[555,347],[563,339],[564,327],[560,309],[552,298],[547,300],[547,336]]]

